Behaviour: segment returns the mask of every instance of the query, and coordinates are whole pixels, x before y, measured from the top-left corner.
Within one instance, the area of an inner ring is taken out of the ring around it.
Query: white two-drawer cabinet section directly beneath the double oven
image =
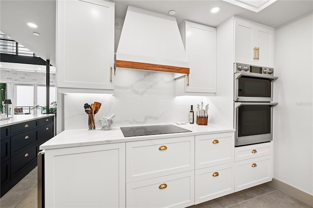
[[[272,142],[235,148],[235,191],[273,178]]]

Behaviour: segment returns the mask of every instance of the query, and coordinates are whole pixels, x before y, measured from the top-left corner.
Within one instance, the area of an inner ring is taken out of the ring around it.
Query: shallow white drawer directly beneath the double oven
[[[272,142],[235,147],[235,161],[270,155],[273,153],[272,147]]]

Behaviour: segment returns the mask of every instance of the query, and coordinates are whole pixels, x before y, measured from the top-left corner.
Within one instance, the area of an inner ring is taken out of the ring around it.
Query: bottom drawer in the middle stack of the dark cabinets
[[[11,157],[11,178],[37,157],[37,146],[31,146]]]

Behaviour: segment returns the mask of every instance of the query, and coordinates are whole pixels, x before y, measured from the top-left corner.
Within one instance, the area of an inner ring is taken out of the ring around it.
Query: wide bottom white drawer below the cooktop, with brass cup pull
[[[126,207],[189,207],[195,203],[194,182],[194,171],[188,171],[126,184]]]

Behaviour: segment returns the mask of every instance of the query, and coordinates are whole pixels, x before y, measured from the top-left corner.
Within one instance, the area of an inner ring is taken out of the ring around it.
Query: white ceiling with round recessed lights
[[[125,18],[127,6],[132,5],[163,14],[176,10],[178,23],[189,20],[212,27],[236,15],[276,28],[313,11],[313,0],[277,0],[259,12],[223,0],[113,1],[115,16],[119,18]],[[221,11],[211,14],[209,10],[213,6],[220,6]],[[55,8],[55,0],[0,0],[0,30],[55,65]],[[29,21],[38,28],[29,28],[26,25]],[[33,32],[41,36],[34,36]]]

